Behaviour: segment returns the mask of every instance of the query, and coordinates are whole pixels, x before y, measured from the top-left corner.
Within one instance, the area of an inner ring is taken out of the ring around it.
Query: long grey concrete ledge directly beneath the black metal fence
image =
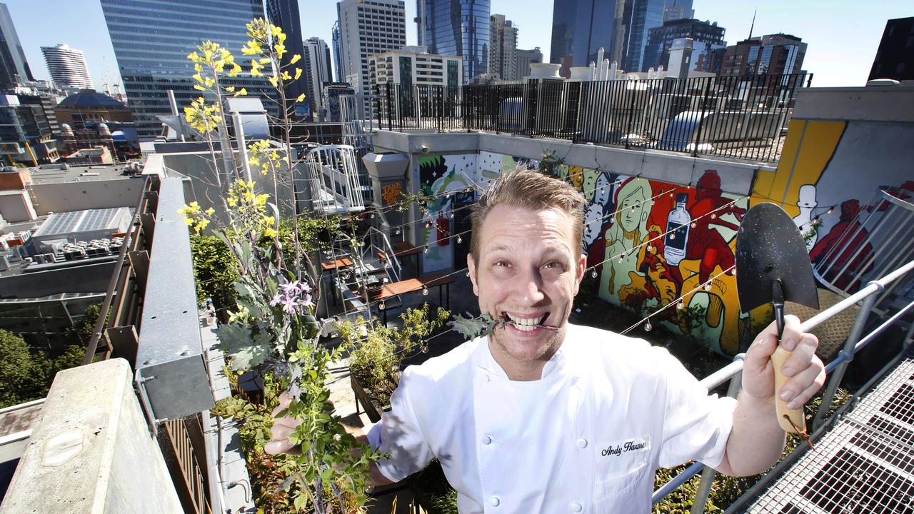
[[[630,177],[641,176],[679,186],[695,185],[708,169],[717,170],[721,188],[726,193],[748,195],[758,170],[774,171],[764,163],[738,163],[708,157],[636,150],[600,145],[580,145],[562,139],[533,138],[521,135],[452,132],[446,134],[412,134],[377,131],[377,147],[411,155],[422,155],[420,147],[428,146],[430,154],[475,154],[492,152],[529,159],[540,159],[554,151],[569,166],[600,168]]]

